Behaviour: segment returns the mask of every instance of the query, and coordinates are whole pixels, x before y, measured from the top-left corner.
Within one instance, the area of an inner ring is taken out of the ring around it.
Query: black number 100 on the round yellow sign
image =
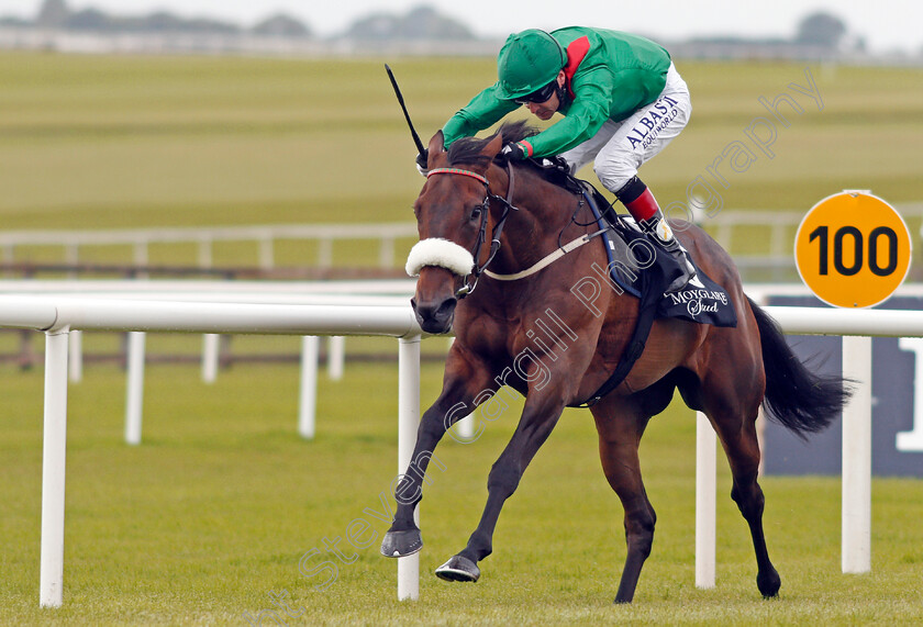
[[[830,273],[830,240],[829,228],[819,226],[811,232],[809,242],[820,239],[821,258],[820,273]],[[883,238],[883,242],[882,242]],[[853,247],[853,262],[847,266],[843,261],[843,249],[846,246]],[[882,267],[878,265],[878,249],[880,246],[888,248],[888,262]],[[865,264],[865,239],[861,231],[855,226],[842,226],[833,234],[833,267],[845,277],[852,277],[863,269]],[[868,234],[868,269],[872,275],[887,277],[898,267],[898,234],[889,226],[879,226]]]

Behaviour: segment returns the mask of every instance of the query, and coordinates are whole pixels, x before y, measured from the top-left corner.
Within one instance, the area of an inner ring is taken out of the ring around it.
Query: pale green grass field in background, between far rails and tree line
[[[10,229],[411,221],[421,180],[383,60],[392,60],[424,141],[496,72],[485,58],[1,53],[0,221]],[[664,204],[685,200],[687,186],[708,177],[733,142],[756,158],[744,172],[724,165],[726,189],[712,181],[727,209],[805,211],[844,188],[894,203],[923,199],[923,70],[678,65],[692,120],[643,171]],[[823,110],[789,87],[809,85],[805,68]],[[758,98],[782,93],[803,113],[781,105],[790,126],[776,123],[769,158],[744,128],[769,116]],[[360,249],[349,247],[337,262]],[[176,255],[192,259],[191,250]],[[289,250],[281,262],[313,258]]]

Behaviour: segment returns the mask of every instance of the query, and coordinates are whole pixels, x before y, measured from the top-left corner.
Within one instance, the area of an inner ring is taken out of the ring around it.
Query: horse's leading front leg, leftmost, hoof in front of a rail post
[[[458,343],[453,345],[446,359],[442,393],[420,419],[410,466],[394,489],[394,520],[381,541],[381,555],[398,558],[423,548],[413,513],[423,499],[426,468],[448,427],[470,414],[477,403],[489,399],[496,390],[497,383],[490,376],[490,370],[470,354],[463,352]]]

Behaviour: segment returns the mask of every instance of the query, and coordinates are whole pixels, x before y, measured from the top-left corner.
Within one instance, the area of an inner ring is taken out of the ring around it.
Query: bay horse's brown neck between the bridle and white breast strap
[[[516,210],[510,212],[498,259],[502,271],[510,272],[527,268],[552,253],[577,205],[572,193],[526,168],[518,168],[513,178],[513,195],[508,200]]]

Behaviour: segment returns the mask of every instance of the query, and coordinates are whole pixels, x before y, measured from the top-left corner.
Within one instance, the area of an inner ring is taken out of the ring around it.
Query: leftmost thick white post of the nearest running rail
[[[60,607],[64,592],[64,486],[67,451],[68,329],[45,334],[45,427],[42,446],[42,548],[38,604]]]

